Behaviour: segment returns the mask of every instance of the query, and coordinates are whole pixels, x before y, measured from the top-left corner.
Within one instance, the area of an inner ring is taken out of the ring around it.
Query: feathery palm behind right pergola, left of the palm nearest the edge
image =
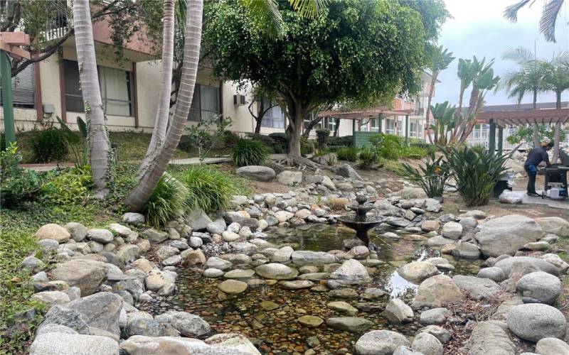
[[[536,109],[538,92],[543,92],[543,72],[541,66],[537,65],[536,56],[530,50],[523,47],[511,48],[502,55],[502,59],[513,60],[520,65],[516,72],[509,72],[501,81],[499,87],[506,89],[509,97],[516,98],[518,104],[521,103],[526,94],[532,94],[533,109]],[[539,146],[539,127],[533,124],[533,146]]]

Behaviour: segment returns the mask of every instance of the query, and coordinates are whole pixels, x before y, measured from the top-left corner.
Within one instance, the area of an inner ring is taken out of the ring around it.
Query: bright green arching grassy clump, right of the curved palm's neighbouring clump
[[[244,191],[240,180],[208,165],[190,165],[175,176],[188,189],[189,209],[218,212],[230,207],[233,195]]]

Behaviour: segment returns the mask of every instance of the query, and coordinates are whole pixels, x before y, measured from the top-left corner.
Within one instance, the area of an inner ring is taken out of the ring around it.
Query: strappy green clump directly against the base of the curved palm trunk
[[[188,209],[188,189],[169,173],[161,176],[154,192],[142,207],[142,214],[152,226],[179,217]]]

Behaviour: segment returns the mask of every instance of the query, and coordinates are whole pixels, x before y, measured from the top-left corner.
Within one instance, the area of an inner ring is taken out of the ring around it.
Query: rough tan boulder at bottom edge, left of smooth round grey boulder
[[[516,346],[496,321],[477,323],[467,343],[469,355],[514,355]]]

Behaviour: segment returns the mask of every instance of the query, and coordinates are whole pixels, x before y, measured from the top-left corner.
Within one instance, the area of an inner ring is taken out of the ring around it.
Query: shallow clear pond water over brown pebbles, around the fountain
[[[353,238],[354,232],[343,226],[313,224],[294,229],[272,229],[268,241],[273,244],[288,244],[295,250],[329,251],[341,249],[344,239]],[[413,260],[420,260],[437,254],[428,251],[418,242],[385,241],[373,232],[371,241],[380,246],[378,258],[384,261],[373,273],[372,285],[384,290],[390,297],[400,297],[410,303],[415,295],[416,285],[408,283],[395,271],[398,266]],[[452,261],[460,273],[475,273],[477,266],[468,261]],[[314,315],[323,320],[329,317],[346,317],[345,314],[331,310],[328,302],[338,301],[328,293],[317,293],[312,290],[284,290],[279,285],[265,285],[252,288],[239,295],[226,295],[218,290],[222,280],[202,278],[191,271],[180,271],[176,282],[179,293],[161,305],[162,309],[150,309],[164,312],[168,309],[186,310],[201,315],[211,324],[211,334],[220,332],[237,332],[253,339],[262,354],[304,354],[314,348],[317,354],[336,354],[353,352],[354,344],[362,332],[343,332],[326,323],[319,327],[305,327],[297,322],[303,315]],[[358,306],[358,317],[365,317],[373,322],[371,329],[392,329],[403,334],[413,335],[421,327],[418,322],[409,324],[390,324],[381,312],[389,297],[378,300],[360,298],[345,299],[351,305]],[[267,307],[267,303],[276,305]],[[272,309],[276,307],[275,309]],[[211,335],[208,334],[208,335]],[[317,339],[317,340],[315,340]],[[319,342],[319,345],[315,345]]]

